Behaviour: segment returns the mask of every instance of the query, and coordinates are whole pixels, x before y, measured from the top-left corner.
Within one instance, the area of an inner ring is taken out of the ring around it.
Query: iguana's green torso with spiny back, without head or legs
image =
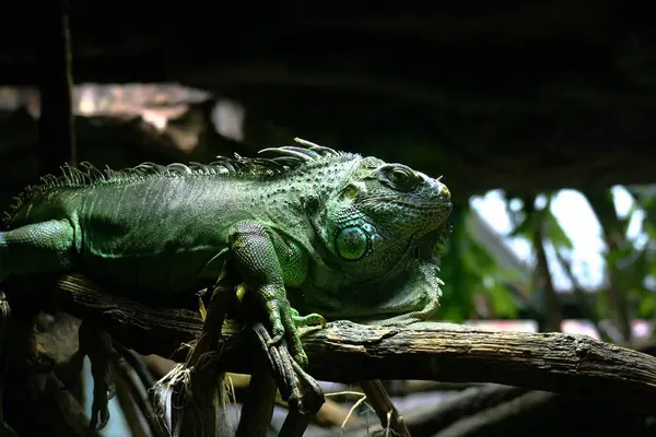
[[[142,292],[192,292],[219,275],[224,258],[216,257],[227,255],[229,229],[239,221],[308,239],[298,198],[282,196],[302,162],[291,164],[237,157],[210,165],[145,163],[120,172],[65,167],[62,176],[48,176],[17,197],[4,227],[66,222],[72,227],[67,268]],[[276,213],[283,204],[285,213]],[[59,239],[69,238],[59,233]],[[39,264],[38,251],[26,257]],[[12,264],[35,263],[21,258]]]

